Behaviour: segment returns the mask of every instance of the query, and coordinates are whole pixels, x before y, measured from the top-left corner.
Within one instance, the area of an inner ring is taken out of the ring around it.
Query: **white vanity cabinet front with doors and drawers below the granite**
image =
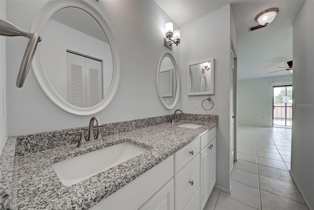
[[[215,137],[216,128],[201,133],[91,209],[203,210],[216,183]]]

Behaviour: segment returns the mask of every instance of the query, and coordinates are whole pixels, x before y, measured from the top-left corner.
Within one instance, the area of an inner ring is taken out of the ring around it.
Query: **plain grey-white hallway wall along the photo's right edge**
[[[291,175],[314,209],[314,1],[306,0],[293,24]],[[303,106],[305,105],[305,106]]]

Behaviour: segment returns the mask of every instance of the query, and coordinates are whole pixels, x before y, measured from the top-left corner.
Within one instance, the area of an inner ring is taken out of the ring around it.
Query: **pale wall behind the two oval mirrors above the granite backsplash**
[[[29,30],[36,11],[44,0],[7,1],[7,19]],[[111,28],[120,55],[120,81],[111,103],[95,114],[103,123],[172,114],[158,99],[156,68],[159,56],[170,52],[179,59],[179,46],[170,51],[163,46],[164,26],[172,21],[155,1],[95,1],[89,0]],[[173,22],[173,21],[172,21]],[[174,26],[178,28],[178,26]],[[28,40],[25,37],[7,38],[7,95],[8,134],[88,125],[91,116],[77,116],[53,105],[43,94],[29,71],[22,88],[15,86],[19,65]],[[39,43],[40,45],[40,43]]]

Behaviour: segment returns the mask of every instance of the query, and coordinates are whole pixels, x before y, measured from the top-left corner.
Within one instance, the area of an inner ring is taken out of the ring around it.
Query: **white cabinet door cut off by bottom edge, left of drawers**
[[[174,178],[165,184],[140,210],[173,210]]]

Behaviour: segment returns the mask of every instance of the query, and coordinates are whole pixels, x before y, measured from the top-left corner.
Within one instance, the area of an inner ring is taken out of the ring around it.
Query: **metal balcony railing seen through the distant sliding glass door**
[[[292,126],[292,106],[273,106],[274,126]]]

